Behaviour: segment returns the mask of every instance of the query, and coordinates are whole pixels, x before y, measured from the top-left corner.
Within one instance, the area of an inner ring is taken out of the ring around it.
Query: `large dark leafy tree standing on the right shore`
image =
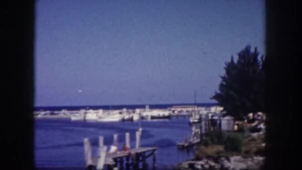
[[[238,54],[236,63],[233,56],[226,62],[225,75],[221,76],[219,91],[211,99],[224,107],[227,115],[242,120],[250,112],[263,111],[264,103],[264,56],[259,58],[257,48],[251,51],[246,46]]]

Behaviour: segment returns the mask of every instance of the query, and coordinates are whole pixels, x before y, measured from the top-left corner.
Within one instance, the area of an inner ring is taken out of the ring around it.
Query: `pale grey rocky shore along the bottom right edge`
[[[222,157],[217,160],[203,158],[200,161],[184,161],[174,170],[259,170],[264,164],[264,157],[241,156]]]

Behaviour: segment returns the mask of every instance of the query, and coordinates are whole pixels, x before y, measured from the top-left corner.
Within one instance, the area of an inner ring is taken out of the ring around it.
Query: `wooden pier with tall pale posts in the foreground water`
[[[136,147],[129,151],[107,152],[103,137],[99,137],[99,155],[92,158],[89,139],[84,139],[84,152],[87,170],[156,170],[156,147],[140,147],[142,130],[136,132]],[[118,136],[113,135],[113,145],[117,146]],[[130,133],[126,133],[126,145],[130,148]],[[152,157],[149,167],[147,159]],[[141,166],[140,166],[141,165]]]

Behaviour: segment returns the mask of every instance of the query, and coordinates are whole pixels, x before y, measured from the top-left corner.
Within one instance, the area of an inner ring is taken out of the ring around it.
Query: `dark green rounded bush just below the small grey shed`
[[[241,134],[229,134],[225,140],[225,150],[230,152],[241,152],[243,136]]]

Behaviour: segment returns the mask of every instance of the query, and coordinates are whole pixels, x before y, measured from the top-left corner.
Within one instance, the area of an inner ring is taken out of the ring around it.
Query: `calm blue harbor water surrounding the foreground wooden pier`
[[[168,169],[183,160],[193,158],[193,152],[176,149],[176,143],[191,133],[188,119],[142,121],[141,126],[142,147],[158,147],[156,165],[159,169]],[[99,136],[104,136],[105,145],[111,145],[113,134],[118,133],[121,149],[125,142],[125,132],[130,132],[131,147],[135,147],[135,131],[138,128],[139,122],[101,123],[68,119],[37,119],[35,120],[36,167],[84,169],[83,138],[90,139],[92,154],[96,155]]]

